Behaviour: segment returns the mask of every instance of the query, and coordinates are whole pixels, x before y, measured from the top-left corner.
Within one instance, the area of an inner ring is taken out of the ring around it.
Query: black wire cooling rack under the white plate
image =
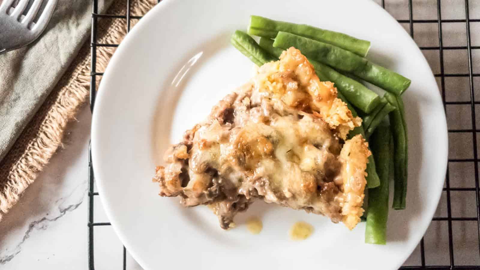
[[[158,0],[160,2],[161,0]],[[444,0],[446,1],[446,0]],[[451,1],[451,0],[450,0]],[[461,0],[460,0],[461,1]],[[457,2],[460,2],[457,1]],[[470,0],[470,1],[477,1],[477,0]],[[98,47],[117,47],[118,44],[99,44],[97,43],[97,21],[98,18],[116,18],[116,19],[124,19],[127,21],[127,32],[130,31],[130,23],[132,19],[140,19],[141,16],[131,16],[130,14],[130,0],[126,0],[125,6],[125,15],[110,15],[110,14],[99,14],[98,13],[98,0],[92,0],[93,2],[93,10],[92,10],[92,33],[91,33],[91,55],[92,55],[92,62],[91,62],[91,80],[90,80],[90,110],[93,112],[94,104],[95,104],[95,97],[96,97],[96,81],[97,77],[103,75],[103,73],[99,73],[96,71],[96,49]],[[477,133],[480,132],[480,129],[476,127],[476,117],[475,117],[475,105],[480,104],[480,101],[475,101],[475,92],[474,92],[474,77],[480,77],[480,74],[473,73],[473,64],[472,64],[472,49],[480,49],[480,46],[472,46],[471,42],[471,23],[480,22],[480,18],[473,19],[470,18],[470,10],[469,10],[469,0],[465,0],[465,19],[442,19],[442,4],[441,0],[437,0],[436,3],[434,0],[424,1],[427,2],[429,5],[436,5],[437,9],[437,19],[418,19],[413,18],[413,10],[414,5],[412,4],[412,0],[408,0],[408,20],[398,20],[400,24],[408,25],[409,33],[411,37],[414,37],[414,25],[415,24],[436,24],[438,25],[438,46],[432,47],[420,47],[422,51],[426,50],[438,50],[440,55],[440,73],[435,74],[435,77],[440,79],[440,86],[441,86],[441,94],[442,99],[444,102],[444,109],[446,110],[449,105],[469,105],[470,113],[471,113],[471,129],[448,129],[449,136],[454,133],[462,133],[465,135],[472,136],[473,142],[473,159],[451,159],[449,157],[448,164],[457,163],[457,162],[470,162],[474,165],[474,179],[475,179],[475,187],[450,187],[450,179],[449,179],[449,170],[447,167],[447,172],[445,175],[445,187],[444,192],[446,193],[446,206],[447,206],[447,216],[446,217],[434,217],[432,219],[433,222],[438,221],[446,221],[448,225],[448,256],[449,256],[449,264],[446,265],[427,265],[425,262],[425,244],[424,239],[422,238],[420,241],[420,264],[415,266],[403,266],[400,269],[472,269],[472,270],[480,270],[480,265],[457,265],[455,262],[456,250],[454,249],[454,236],[452,233],[452,222],[453,221],[476,221],[477,226],[476,230],[478,233],[477,240],[478,245],[475,256],[480,256],[480,201],[479,201],[479,158],[477,152]],[[380,4],[383,8],[385,8],[385,0],[381,0]],[[388,0],[387,0],[388,4]],[[467,46],[444,46],[444,41],[442,37],[442,24],[445,23],[463,23],[466,27],[466,41]],[[468,52],[468,73],[464,74],[450,74],[444,72],[444,51],[447,50],[466,50]],[[470,101],[446,101],[445,100],[445,78],[447,77],[465,77],[468,79],[468,87],[469,87],[469,95]],[[88,269],[94,270],[95,269],[95,258],[94,258],[94,232],[95,227],[97,226],[109,226],[111,225],[110,222],[95,222],[94,221],[94,201],[95,197],[98,196],[98,192],[94,192],[94,170],[92,166],[92,157],[89,150],[89,159],[88,159]],[[464,192],[465,196],[467,196],[466,192],[475,192],[475,207],[477,215],[475,217],[452,217],[452,203],[451,203],[451,191],[454,192]],[[127,268],[126,264],[126,249],[123,247],[123,269]]]

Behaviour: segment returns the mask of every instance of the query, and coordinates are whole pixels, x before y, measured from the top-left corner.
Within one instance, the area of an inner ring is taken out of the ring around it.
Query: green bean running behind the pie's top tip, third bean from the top
[[[273,47],[273,42],[273,39],[262,37],[260,38],[260,47],[270,54],[279,57],[283,49]],[[320,62],[311,59],[309,59],[309,61],[312,63],[320,80],[334,83],[338,91],[360,110],[366,113],[371,112],[380,102],[380,97],[375,92],[359,82],[340,74],[333,68]]]

